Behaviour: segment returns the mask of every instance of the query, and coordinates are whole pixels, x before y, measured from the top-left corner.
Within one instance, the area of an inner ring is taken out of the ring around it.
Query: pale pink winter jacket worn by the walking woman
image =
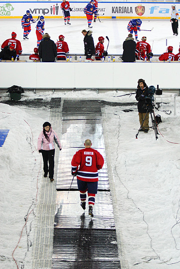
[[[54,149],[54,141],[61,149],[61,143],[59,141],[59,138],[54,130],[52,130],[52,127],[50,128],[49,132],[46,132],[46,134],[49,136],[49,141],[45,138],[45,135],[43,134],[43,131],[39,134],[38,141],[37,141],[37,149],[43,149],[43,150],[51,150]]]

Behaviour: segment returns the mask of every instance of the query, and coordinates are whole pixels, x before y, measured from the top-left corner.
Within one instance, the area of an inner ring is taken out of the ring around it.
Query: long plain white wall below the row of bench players
[[[28,80],[27,70],[30,70]],[[131,75],[130,70],[133,70]],[[136,88],[138,79],[143,78],[148,85],[159,84],[161,88],[179,89],[179,80],[172,79],[179,77],[179,71],[180,62],[1,62],[0,88],[19,85],[22,88],[40,89],[132,89]]]

